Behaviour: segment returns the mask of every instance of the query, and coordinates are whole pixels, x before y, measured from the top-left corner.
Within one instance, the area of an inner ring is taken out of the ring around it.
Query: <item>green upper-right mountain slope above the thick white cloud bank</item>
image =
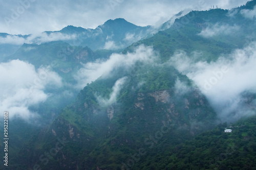
[[[251,9],[254,5],[255,1],[251,1],[246,6],[230,11],[191,11],[176,19],[171,28],[138,41],[130,48],[139,44],[153,45],[163,61],[180,50],[191,57],[194,52],[202,53],[198,61],[216,61],[222,54],[229,54],[234,48],[242,48],[256,39],[256,23],[242,11]]]

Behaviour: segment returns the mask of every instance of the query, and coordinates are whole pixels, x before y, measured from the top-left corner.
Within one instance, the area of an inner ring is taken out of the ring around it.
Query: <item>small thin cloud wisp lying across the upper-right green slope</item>
[[[202,30],[201,33],[198,35],[209,38],[217,35],[231,35],[234,34],[234,32],[238,32],[240,29],[239,26],[229,26],[229,25],[220,25],[220,23],[217,23],[216,25],[212,27],[207,27],[206,29]]]

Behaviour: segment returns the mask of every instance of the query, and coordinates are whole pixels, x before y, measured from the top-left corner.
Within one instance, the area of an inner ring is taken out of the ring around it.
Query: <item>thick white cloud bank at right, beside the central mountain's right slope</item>
[[[188,57],[180,52],[170,62],[196,83],[223,121],[230,121],[255,114],[251,109],[255,106],[245,105],[248,95],[244,95],[256,93],[255,49],[256,43],[252,42],[210,63],[196,62],[196,56]]]

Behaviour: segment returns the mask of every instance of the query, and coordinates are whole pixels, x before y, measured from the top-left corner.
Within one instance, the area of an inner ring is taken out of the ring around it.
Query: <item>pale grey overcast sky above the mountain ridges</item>
[[[138,26],[158,25],[181,10],[231,9],[247,0],[0,0],[0,33],[30,34],[73,25],[96,28],[124,18]]]

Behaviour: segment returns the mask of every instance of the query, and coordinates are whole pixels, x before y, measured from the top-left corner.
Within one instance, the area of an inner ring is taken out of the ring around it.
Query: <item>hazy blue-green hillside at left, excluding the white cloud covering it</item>
[[[111,53],[113,51],[99,50],[93,52],[89,47],[71,46],[62,41],[53,41],[40,45],[23,44],[15,54],[6,57],[5,62],[18,59],[32,64],[35,70],[43,68],[38,77],[35,77],[32,82],[27,82],[27,88],[31,93],[39,88],[41,83],[47,81],[47,78],[51,77],[51,71],[54,71],[61,78],[60,87],[48,86],[44,88],[48,95],[46,101],[29,107],[31,112],[36,113],[35,117],[26,120],[20,117],[11,119],[11,123],[15,126],[9,128],[12,132],[10,139],[15,140],[10,140],[13,143],[10,154],[16,155],[24,144],[27,144],[28,139],[37,134],[42,127],[51,124],[61,113],[61,110],[74,101],[79,92],[74,75],[83,67],[81,63],[92,62],[97,59],[103,60],[108,58]],[[25,98],[25,100],[28,99]],[[26,134],[26,138],[24,134]]]

